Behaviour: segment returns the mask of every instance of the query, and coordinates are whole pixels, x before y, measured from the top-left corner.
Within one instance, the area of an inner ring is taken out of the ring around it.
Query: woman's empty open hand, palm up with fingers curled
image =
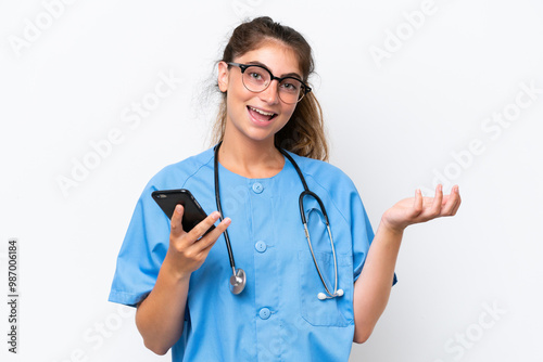
[[[435,188],[434,197],[422,197],[420,190],[417,190],[415,197],[404,198],[388,209],[381,222],[390,230],[401,233],[414,223],[454,216],[460,207],[458,186],[454,185],[451,194],[444,196],[441,184]]]

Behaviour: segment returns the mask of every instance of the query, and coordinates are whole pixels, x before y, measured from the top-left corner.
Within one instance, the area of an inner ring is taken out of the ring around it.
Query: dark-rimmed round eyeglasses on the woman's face
[[[227,63],[228,65],[237,66],[241,69],[241,81],[245,88],[254,93],[260,93],[265,91],[272,80],[277,79],[279,82],[278,93],[279,99],[287,104],[294,104],[300,102],[305,94],[311,92],[311,88],[307,87],[302,80],[287,76],[287,77],[276,77],[262,65],[253,64],[239,64],[239,63]]]

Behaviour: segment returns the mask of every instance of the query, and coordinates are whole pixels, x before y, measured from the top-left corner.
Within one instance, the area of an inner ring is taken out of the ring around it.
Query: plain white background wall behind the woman
[[[7,351],[2,302],[2,361],[169,360],[144,349],[130,308],[106,301],[116,255],[147,181],[210,146],[214,61],[243,17],[263,14],[312,44],[330,161],[354,180],[374,228],[417,188],[460,186],[456,217],[406,231],[400,282],[351,360],[541,358],[541,1],[435,0],[415,30],[406,16],[419,0],[96,0],[55,17],[52,2],[0,3],[0,288],[10,237],[21,271],[20,353]],[[389,57],[374,59],[377,48]],[[161,74],[182,82],[126,122]],[[504,112],[506,126],[487,120]],[[115,129],[121,141],[63,194],[59,178]]]

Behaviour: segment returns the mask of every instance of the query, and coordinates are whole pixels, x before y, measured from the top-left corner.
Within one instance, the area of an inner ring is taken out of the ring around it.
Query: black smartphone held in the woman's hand
[[[191,231],[192,228],[198,225],[200,221],[207,217],[203,208],[200,206],[200,204],[198,204],[194,196],[192,196],[190,191],[186,189],[154,191],[151,195],[171,220],[172,216],[174,215],[175,207],[178,204],[182,205],[185,212],[182,214],[181,223],[182,230],[185,230],[186,232]],[[213,229],[215,229],[215,225],[212,225],[204,233],[204,235]]]

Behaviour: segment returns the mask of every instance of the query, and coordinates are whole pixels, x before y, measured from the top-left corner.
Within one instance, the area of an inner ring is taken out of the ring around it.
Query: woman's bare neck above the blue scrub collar
[[[226,134],[218,151],[218,160],[226,169],[251,179],[273,177],[285,165],[285,157],[273,143],[251,140],[233,142]]]

